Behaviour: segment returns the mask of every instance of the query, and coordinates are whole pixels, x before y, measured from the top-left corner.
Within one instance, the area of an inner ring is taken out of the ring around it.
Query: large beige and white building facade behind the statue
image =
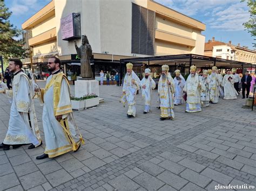
[[[62,36],[61,20],[72,13],[79,14],[80,34],[89,39],[99,66],[138,56],[204,54],[205,24],[151,0],[55,0],[22,25],[31,34],[32,60],[42,65],[41,72],[52,55],[68,67],[79,62],[74,40]],[[76,41],[79,46],[80,39]],[[95,73],[99,69],[104,67]]]

